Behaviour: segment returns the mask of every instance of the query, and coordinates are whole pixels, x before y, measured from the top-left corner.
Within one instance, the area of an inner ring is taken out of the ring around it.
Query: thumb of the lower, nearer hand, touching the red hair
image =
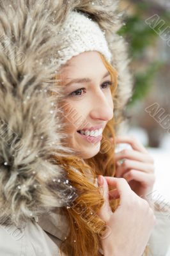
[[[104,179],[102,175],[98,176],[98,184],[100,187],[100,193],[102,196],[104,196],[104,204],[100,208],[100,211],[98,212],[98,216],[104,220],[108,221],[111,216],[111,207],[109,205],[109,188],[107,185],[107,181]],[[103,192],[103,193],[102,193]]]

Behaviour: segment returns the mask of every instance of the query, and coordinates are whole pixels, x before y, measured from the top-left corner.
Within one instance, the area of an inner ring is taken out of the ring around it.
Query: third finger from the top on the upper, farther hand
[[[120,178],[123,177],[125,172],[128,172],[129,170],[138,170],[140,172],[144,173],[153,173],[154,172],[154,167],[153,164],[146,164],[146,163],[141,163],[138,161],[132,161],[132,160],[125,160],[121,166],[119,166],[116,170],[116,177]]]

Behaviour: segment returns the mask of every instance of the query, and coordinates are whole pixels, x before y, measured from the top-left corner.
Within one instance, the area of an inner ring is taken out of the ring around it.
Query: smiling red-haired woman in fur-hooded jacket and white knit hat
[[[2,255],[141,255],[155,177],[142,145],[114,138],[132,87],[117,4],[0,3]]]

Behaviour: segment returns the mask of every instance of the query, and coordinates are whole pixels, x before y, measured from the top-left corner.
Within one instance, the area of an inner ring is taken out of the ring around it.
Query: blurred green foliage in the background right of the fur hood
[[[148,17],[153,15],[150,4],[135,3],[134,5],[136,10],[135,14],[127,17],[125,26],[118,31],[118,35],[125,37],[127,40],[131,60],[140,63],[140,61],[144,61],[144,52],[146,49],[155,44],[159,35],[145,22]],[[170,17],[169,12],[160,14],[160,19],[165,20],[166,24],[168,24]],[[153,61],[153,63],[146,62],[145,70],[134,74],[134,95],[129,103],[130,106],[137,100],[146,97],[147,93],[150,92],[152,81],[162,65],[164,65],[164,63],[160,61]]]

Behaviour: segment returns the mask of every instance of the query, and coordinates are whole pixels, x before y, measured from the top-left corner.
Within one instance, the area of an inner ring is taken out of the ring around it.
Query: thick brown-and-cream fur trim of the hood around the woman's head
[[[17,223],[67,203],[68,181],[52,155],[72,153],[62,145],[59,86],[51,56],[68,13],[84,12],[105,31],[118,70],[120,115],[132,93],[118,1],[0,0],[0,223]]]

